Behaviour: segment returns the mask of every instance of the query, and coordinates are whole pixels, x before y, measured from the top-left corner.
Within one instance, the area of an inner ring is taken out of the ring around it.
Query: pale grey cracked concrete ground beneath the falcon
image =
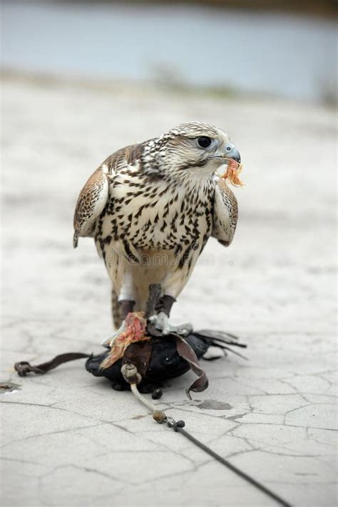
[[[73,251],[77,192],[106,155],[200,119],[240,148],[234,244],[210,240],[175,306],[178,322],[240,335],[248,360],[204,363],[155,402],[295,506],[337,503],[334,325],[335,118],[315,105],[220,100],[71,83],[3,83],[4,506],[272,506],[83,360],[19,378],[14,362],[99,352],[108,278],[91,240]]]

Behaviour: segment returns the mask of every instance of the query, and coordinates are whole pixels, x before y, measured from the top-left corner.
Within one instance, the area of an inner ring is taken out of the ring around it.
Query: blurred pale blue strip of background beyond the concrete
[[[335,0],[1,3],[7,69],[337,99]]]

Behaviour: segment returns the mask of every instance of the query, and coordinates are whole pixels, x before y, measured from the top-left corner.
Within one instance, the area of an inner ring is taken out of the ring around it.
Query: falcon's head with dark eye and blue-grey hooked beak
[[[182,123],[145,143],[143,167],[148,174],[203,178],[240,153],[225,132],[202,122]]]

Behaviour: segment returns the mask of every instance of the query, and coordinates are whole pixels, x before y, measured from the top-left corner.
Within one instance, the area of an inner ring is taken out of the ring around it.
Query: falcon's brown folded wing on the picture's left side
[[[86,182],[78,196],[74,213],[73,247],[78,246],[79,236],[91,236],[96,219],[106,205],[108,199],[108,167],[103,164],[96,169]]]

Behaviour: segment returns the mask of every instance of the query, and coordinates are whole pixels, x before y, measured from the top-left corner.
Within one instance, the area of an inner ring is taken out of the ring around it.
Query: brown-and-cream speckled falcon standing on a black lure
[[[237,200],[217,173],[240,153],[220,128],[178,125],[108,157],[78,197],[73,246],[93,237],[112,282],[118,336],[128,313],[144,311],[151,283],[161,296],[150,320],[163,335],[177,330],[170,310],[210,236],[229,246]]]

